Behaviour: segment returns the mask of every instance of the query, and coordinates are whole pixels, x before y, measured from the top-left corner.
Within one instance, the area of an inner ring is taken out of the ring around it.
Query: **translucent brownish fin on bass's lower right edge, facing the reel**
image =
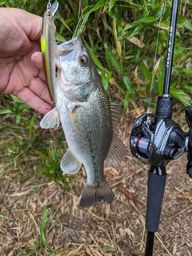
[[[126,146],[118,136],[113,134],[110,150],[106,155],[106,164],[110,166],[118,165],[124,156],[126,156]]]

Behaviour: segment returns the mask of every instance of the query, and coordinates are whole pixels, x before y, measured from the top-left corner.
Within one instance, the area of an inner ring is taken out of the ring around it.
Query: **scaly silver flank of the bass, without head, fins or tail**
[[[74,104],[61,93],[62,88],[59,83],[58,78],[56,108],[60,114],[67,144],[78,161],[84,165],[87,184],[101,186],[105,181],[103,162],[113,136],[110,104],[106,93],[102,85],[99,85],[91,92],[86,102]],[[70,112],[69,108],[73,105],[74,112]],[[73,117],[78,117],[80,128],[74,126]]]

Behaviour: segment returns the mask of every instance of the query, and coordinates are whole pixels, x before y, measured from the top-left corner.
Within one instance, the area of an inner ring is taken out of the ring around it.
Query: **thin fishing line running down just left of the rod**
[[[157,43],[156,43],[156,47],[155,47],[155,52],[154,52],[154,67],[157,63],[155,63],[156,59],[157,59],[157,53],[158,53],[158,39],[159,39],[159,34],[160,34],[160,26],[161,26],[161,22],[162,22],[162,8],[163,8],[164,2],[162,0],[162,6],[161,6],[161,15],[159,18],[159,22],[158,22],[158,37],[157,37]],[[151,79],[151,83],[150,83],[150,97],[149,97],[149,102],[148,102],[148,107],[147,107],[147,111],[146,112],[150,112],[150,101],[151,101],[151,95],[152,95],[152,91],[154,88],[154,67],[153,67],[153,74],[152,74],[152,79]]]

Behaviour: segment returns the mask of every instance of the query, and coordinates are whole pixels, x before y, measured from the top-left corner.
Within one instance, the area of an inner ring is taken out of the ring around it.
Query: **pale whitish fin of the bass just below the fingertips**
[[[50,112],[46,113],[45,116],[43,116],[40,127],[44,129],[49,128],[57,128],[59,126],[60,120],[58,115],[57,108],[53,108],[50,110]]]

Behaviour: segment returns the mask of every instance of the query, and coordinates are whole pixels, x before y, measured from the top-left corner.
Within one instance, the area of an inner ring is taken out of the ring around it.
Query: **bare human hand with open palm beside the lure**
[[[15,95],[46,114],[51,100],[40,52],[42,17],[0,8],[0,27],[0,92]]]

